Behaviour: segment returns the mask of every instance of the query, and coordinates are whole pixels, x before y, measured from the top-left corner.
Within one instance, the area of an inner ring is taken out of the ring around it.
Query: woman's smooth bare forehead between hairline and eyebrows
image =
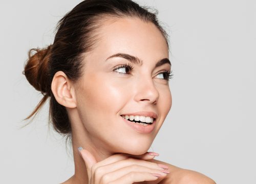
[[[166,40],[152,23],[136,17],[110,18],[98,30],[99,40],[95,52],[108,57],[127,53],[139,58],[168,58]]]

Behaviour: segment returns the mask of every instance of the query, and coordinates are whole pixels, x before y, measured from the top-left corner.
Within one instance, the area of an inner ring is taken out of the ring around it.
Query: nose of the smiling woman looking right
[[[136,82],[135,91],[136,102],[145,101],[156,104],[159,99],[159,91],[150,77],[140,77]]]

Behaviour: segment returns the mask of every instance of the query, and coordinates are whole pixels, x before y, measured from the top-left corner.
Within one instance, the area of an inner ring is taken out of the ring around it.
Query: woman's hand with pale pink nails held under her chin
[[[118,153],[98,163],[88,150],[81,149],[80,154],[86,164],[89,184],[132,184],[157,180],[167,175],[163,165],[145,161],[155,157],[148,152],[142,155]]]

